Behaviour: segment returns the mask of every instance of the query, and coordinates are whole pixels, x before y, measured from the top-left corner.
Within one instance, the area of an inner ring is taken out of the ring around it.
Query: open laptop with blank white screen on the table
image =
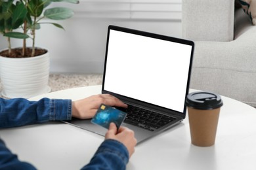
[[[194,42],[110,25],[102,93],[128,105],[122,126],[135,131],[137,143],[184,120]],[[99,135],[106,129],[91,120],[67,122]]]

